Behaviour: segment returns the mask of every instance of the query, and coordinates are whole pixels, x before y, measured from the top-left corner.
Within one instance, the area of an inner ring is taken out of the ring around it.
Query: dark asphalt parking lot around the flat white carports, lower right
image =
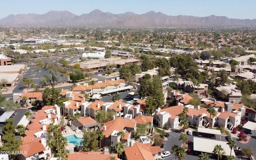
[[[164,150],[162,150],[162,152],[165,152],[165,151],[169,151],[171,152],[172,151],[172,146],[174,145],[178,145],[178,146],[181,146],[182,145],[182,141],[179,140],[180,138],[180,135],[182,133],[180,133],[179,130],[172,130],[171,132],[169,132],[169,137],[167,138],[168,140],[166,140],[164,142]],[[191,150],[193,150],[193,137],[196,136],[197,137],[197,134],[195,131],[193,131],[193,134],[192,135],[187,135],[188,137],[188,140],[191,140],[191,144],[188,145],[188,148],[190,148]],[[204,135],[203,135],[204,136]],[[216,139],[215,140],[221,140],[221,141],[224,141],[224,142],[228,142],[226,140],[226,136],[220,136],[220,135],[216,135],[215,136]],[[200,138],[204,138],[204,139],[210,139],[210,138],[207,138],[206,137],[200,137]],[[238,138],[236,137],[233,137],[233,139],[236,141],[236,145],[240,148],[244,148],[244,147],[250,147],[253,149],[254,153],[256,153],[256,132],[253,132],[252,133],[252,136],[251,136],[251,139],[249,141],[248,144],[242,144],[238,141]],[[211,157],[212,158],[212,157]],[[238,160],[240,160],[239,156],[236,157]],[[166,158],[163,158],[164,160],[175,160],[175,155],[171,153],[170,156],[166,157]],[[198,159],[198,156],[195,156],[193,154],[187,154],[186,153],[186,160],[196,160]]]

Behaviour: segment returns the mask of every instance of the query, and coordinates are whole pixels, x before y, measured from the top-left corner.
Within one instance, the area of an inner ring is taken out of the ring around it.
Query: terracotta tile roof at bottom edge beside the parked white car
[[[150,144],[142,144],[140,142],[134,143],[133,146],[126,148],[124,152],[127,160],[155,160],[152,155],[154,153],[151,152],[152,150],[161,152],[160,146],[157,148],[154,147],[153,149]]]

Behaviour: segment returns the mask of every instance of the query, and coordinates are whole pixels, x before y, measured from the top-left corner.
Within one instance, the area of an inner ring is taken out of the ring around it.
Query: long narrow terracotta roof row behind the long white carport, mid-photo
[[[125,82],[123,79],[119,80],[107,80],[106,82],[102,83],[95,83],[93,86],[92,85],[79,85],[76,86],[72,89],[72,91],[82,91],[82,90],[92,90],[92,88],[105,88],[106,86],[114,86],[114,85],[119,85],[120,82]]]

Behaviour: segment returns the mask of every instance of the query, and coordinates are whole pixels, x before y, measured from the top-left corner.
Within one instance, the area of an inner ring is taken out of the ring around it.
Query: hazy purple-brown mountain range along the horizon
[[[9,15],[0,20],[0,26],[85,26],[85,27],[171,27],[204,25],[256,25],[254,20],[230,19],[225,16],[168,16],[161,12],[150,11],[145,14],[112,14],[93,10],[77,16],[68,11],[50,11],[46,14]]]

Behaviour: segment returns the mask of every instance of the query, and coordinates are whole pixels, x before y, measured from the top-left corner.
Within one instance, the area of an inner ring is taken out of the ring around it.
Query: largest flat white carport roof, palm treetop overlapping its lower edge
[[[199,152],[212,153],[212,151],[214,150],[214,146],[216,146],[216,145],[221,145],[221,147],[225,151],[225,156],[230,155],[230,148],[229,148],[227,142],[219,141],[219,140],[212,140],[212,139],[203,139],[203,138],[198,138],[198,137],[193,138],[194,150],[199,151]],[[233,148],[231,151],[231,155],[236,156]]]

